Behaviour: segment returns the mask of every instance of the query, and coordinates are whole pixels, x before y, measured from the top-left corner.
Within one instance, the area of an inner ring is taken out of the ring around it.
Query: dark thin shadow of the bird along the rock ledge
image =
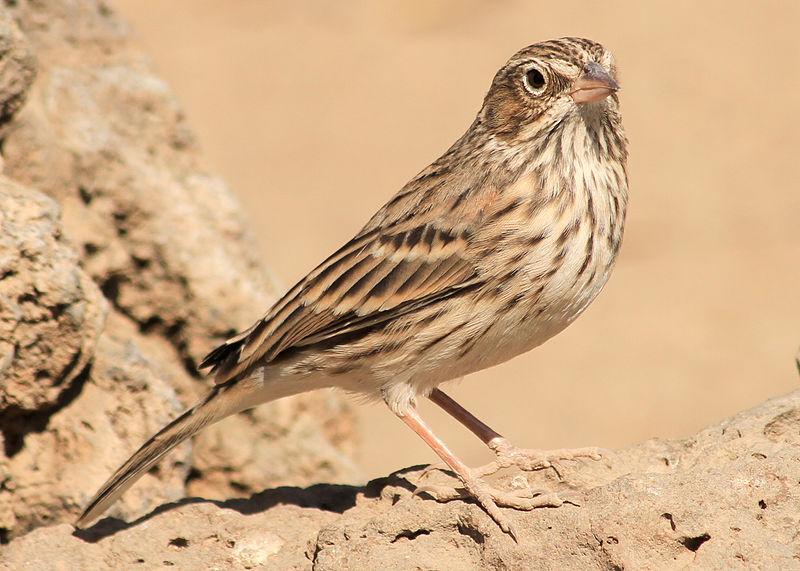
[[[177,502],[162,504],[150,513],[130,522],[115,517],[106,517],[86,529],[75,529],[72,535],[88,543],[96,543],[120,531],[136,527],[159,514],[190,504],[214,504],[219,508],[235,510],[242,515],[265,512],[277,505],[294,505],[341,514],[356,505],[356,499],[359,495],[363,495],[366,498],[378,498],[387,486],[402,487],[413,492],[416,486],[405,475],[419,472],[423,468],[425,466],[412,466],[398,470],[389,476],[372,480],[364,486],[344,484],[314,484],[306,488],[280,486],[258,492],[249,498],[233,498],[230,500],[209,500],[197,497],[184,498]]]

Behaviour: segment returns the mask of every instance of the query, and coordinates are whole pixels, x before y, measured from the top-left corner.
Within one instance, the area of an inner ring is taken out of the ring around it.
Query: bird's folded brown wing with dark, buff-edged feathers
[[[478,283],[470,238],[468,230],[435,222],[359,235],[200,367],[225,382],[287,349],[363,332],[456,295]]]

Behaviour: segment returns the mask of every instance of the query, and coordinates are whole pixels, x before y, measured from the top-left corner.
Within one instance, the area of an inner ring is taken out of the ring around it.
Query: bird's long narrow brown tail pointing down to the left
[[[217,385],[206,398],[145,442],[97,491],[75,523],[76,527],[85,528],[91,524],[167,452],[206,426],[261,402],[286,396],[262,395],[262,398],[254,402],[251,399],[238,398],[244,392],[238,384],[231,382]]]

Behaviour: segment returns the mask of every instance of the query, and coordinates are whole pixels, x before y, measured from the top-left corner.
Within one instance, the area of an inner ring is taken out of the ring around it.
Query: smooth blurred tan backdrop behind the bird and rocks
[[[631,151],[615,273],[564,333],[448,392],[516,444],[558,448],[686,436],[798,387],[800,2],[112,5],[285,287],[462,134],[516,50],[600,41]],[[422,409],[468,463],[490,459]],[[368,476],[435,460],[384,406],[358,414]]]

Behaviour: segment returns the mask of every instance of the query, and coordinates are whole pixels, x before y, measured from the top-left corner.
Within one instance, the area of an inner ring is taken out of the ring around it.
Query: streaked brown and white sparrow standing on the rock
[[[513,447],[438,387],[502,363],[563,330],[600,292],[622,239],[627,141],[614,60],[562,38],[516,53],[467,132],[250,329],[201,364],[215,386],[148,440],[103,485],[85,526],[170,449],[231,414],[323,387],[383,399],[500,527],[498,506],[558,506],[482,476],[536,470],[595,449]],[[496,454],[468,468],[420,418],[428,397]]]

